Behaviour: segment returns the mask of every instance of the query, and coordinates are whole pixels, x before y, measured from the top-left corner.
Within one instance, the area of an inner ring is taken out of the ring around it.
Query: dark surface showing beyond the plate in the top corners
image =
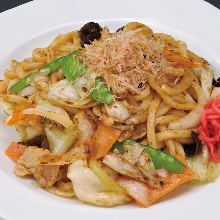
[[[220,8],[220,0],[206,0],[206,1]],[[5,11],[10,8],[14,8],[26,2],[30,2],[30,0],[29,1],[28,0],[0,0],[0,12]]]

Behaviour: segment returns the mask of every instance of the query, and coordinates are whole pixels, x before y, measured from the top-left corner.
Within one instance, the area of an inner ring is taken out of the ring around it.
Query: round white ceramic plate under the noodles
[[[154,31],[172,34],[208,61],[220,63],[220,11],[200,0],[35,0],[0,14],[0,72],[11,58],[22,59],[46,46],[58,33],[96,20],[111,30],[140,21]],[[83,22],[79,22],[83,21]],[[0,118],[3,119],[1,113]],[[16,139],[12,128],[0,126],[0,219],[217,219],[220,181],[171,193],[148,209],[135,205],[98,208],[55,197],[33,180],[13,175],[14,164],[4,150]]]

